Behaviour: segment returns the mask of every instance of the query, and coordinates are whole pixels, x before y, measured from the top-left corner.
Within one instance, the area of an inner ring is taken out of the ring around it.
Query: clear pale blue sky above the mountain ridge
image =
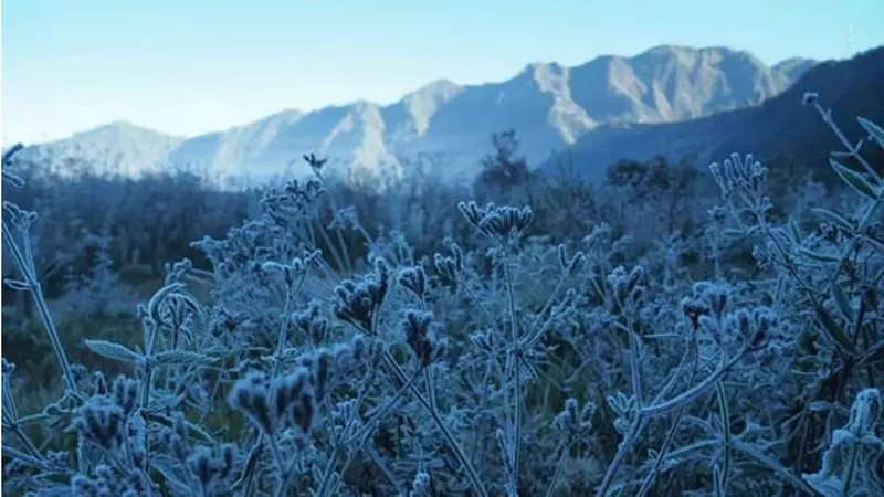
[[[664,43],[841,59],[884,44],[882,19],[884,0],[4,0],[3,142],[194,135]]]

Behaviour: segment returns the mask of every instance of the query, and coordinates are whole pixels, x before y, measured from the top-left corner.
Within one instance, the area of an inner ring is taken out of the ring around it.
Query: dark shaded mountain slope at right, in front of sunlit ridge
[[[599,178],[620,159],[694,157],[706,165],[735,151],[759,158],[790,156],[808,167],[824,166],[829,151],[844,147],[812,107],[801,105],[804,93],[818,93],[820,104],[832,109],[838,125],[855,140],[863,136],[855,116],[884,121],[881,81],[884,47],[815,64],[785,93],[758,106],[678,123],[599,128],[540,169],[552,171],[566,161],[587,177]]]

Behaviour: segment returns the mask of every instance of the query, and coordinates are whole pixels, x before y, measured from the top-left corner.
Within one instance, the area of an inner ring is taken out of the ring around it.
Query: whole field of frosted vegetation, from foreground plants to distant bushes
[[[218,191],[8,150],[2,493],[884,496],[884,129],[803,104],[825,168],[589,183],[503,133],[473,184]]]

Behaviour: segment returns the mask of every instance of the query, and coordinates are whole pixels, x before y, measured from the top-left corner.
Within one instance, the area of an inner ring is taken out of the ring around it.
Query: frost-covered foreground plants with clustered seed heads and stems
[[[881,490],[873,173],[833,161],[864,200],[853,214],[814,210],[823,223],[806,232],[768,215],[760,162],[713,167],[723,204],[709,246],[751,244],[758,274],[693,282],[680,251],[694,242],[666,233],[639,250],[599,223],[552,244],[532,235],[530,205],[461,202],[476,236],[421,256],[401,232],[372,235],[324,162],[306,160],[314,178],[265,191],[254,219],[194,243],[211,272],[166,266],[137,308],[137,346],[84,342],[118,363],[113,381],[67,361],[27,236],[35,214],[4,204],[19,273],[6,283],[36,303],[65,387],[21,412],[3,360],[4,491]],[[211,284],[206,302],[194,279]]]

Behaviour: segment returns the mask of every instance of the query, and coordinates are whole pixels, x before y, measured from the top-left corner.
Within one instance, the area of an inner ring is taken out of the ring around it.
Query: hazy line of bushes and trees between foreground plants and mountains
[[[881,154],[870,157],[878,168],[884,163]],[[561,165],[557,177],[540,173],[520,154],[514,130],[494,134],[490,152],[480,163],[481,171],[466,189],[440,188],[432,172],[407,175],[382,192],[334,178],[327,178],[326,184],[337,203],[350,207],[372,236],[401,233],[423,254],[442,248],[446,236],[472,233],[460,216],[452,215],[459,200],[529,204],[536,218],[532,230],[558,241],[583,236],[603,222],[615,234],[629,231],[650,247],[665,237],[697,237],[718,197],[705,165],[692,159],[621,160],[601,182],[587,180],[579,165]],[[789,156],[774,157],[766,165],[778,209],[775,214],[781,216],[808,195],[810,184],[823,195],[833,194],[829,190],[841,184],[831,170],[809,170]],[[219,191],[186,171],[131,179],[91,172],[87,166],[72,160],[64,169],[76,172],[60,176],[46,172],[39,162],[17,162],[14,172],[25,180],[24,188],[3,186],[4,199],[40,212],[32,243],[40,247],[38,265],[50,298],[64,292],[72,275],[90,274],[101,257],[133,285],[160,279],[165,263],[185,257],[208,268],[191,242],[207,235],[221,237],[260,212],[259,190]],[[335,221],[334,211],[332,202],[324,205],[319,219],[326,226]],[[347,241],[349,250],[367,253],[370,247],[357,240]],[[4,305],[10,295],[14,294],[3,294]]]

